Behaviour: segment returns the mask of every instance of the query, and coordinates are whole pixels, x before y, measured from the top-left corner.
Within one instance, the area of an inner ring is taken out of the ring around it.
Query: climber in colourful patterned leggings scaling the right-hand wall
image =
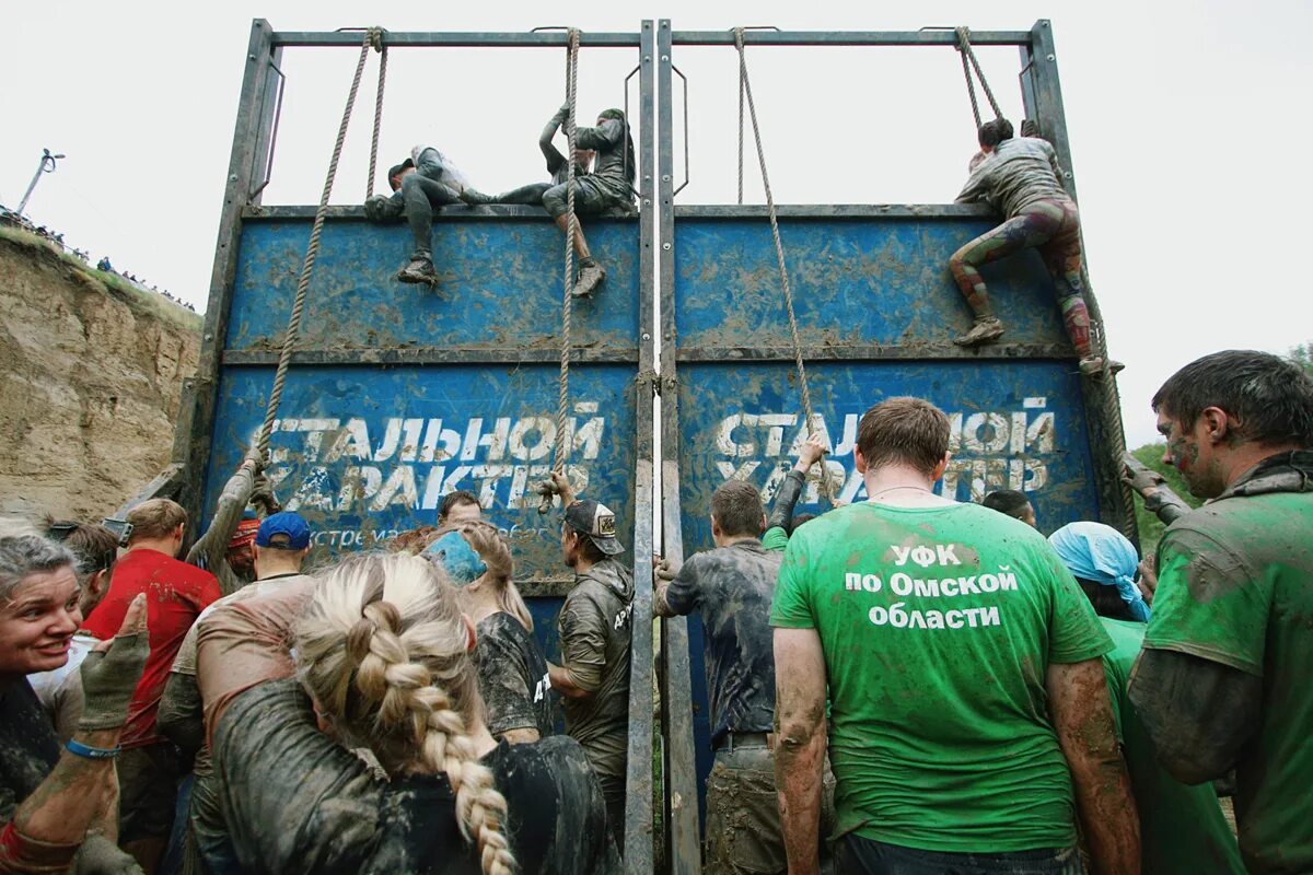
[[[991,344],[1003,336],[1003,323],[990,310],[979,265],[1025,248],[1036,248],[1058,286],[1058,306],[1067,336],[1081,356],[1081,373],[1100,374],[1103,358],[1090,344],[1090,314],[1085,306],[1081,261],[1081,216],[1062,188],[1057,153],[1046,140],[1012,136],[1012,123],[995,118],[979,127],[981,152],[958,203],[986,201],[1004,218],[1003,224],[953,253],[948,265],[976,316],[972,329],[953,342],[958,346]],[[1112,373],[1120,362],[1107,362]]]

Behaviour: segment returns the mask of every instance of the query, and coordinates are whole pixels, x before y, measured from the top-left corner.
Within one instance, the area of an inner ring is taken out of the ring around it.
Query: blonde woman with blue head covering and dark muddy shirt
[[[458,523],[423,554],[442,565],[474,623],[474,665],[488,731],[511,744],[555,733],[558,694],[533,638],[533,618],[511,580],[511,548],[490,522]]]

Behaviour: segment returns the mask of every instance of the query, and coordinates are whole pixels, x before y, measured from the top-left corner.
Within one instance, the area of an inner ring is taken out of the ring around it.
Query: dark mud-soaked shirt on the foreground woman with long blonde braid
[[[506,796],[524,875],[609,874],[618,855],[601,791],[563,736],[482,758]],[[242,870],[301,875],[478,875],[445,775],[385,781],[315,727],[294,678],[239,694],[214,731],[217,787]]]

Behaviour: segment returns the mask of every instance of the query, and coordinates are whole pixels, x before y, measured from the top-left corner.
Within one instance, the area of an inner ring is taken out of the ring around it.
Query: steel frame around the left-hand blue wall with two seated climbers
[[[639,236],[639,320],[642,341],[633,346],[603,350],[576,349],[579,362],[629,362],[637,366],[634,380],[638,434],[635,436],[637,470],[634,478],[634,632],[630,681],[630,722],[633,725],[651,727],[654,708],[653,640],[651,640],[651,552],[653,552],[653,488],[654,488],[654,416],[655,353],[650,325],[655,319],[654,290],[654,234],[655,209],[653,206],[653,165],[656,132],[650,123],[654,110],[653,22],[643,21],[638,33],[584,33],[584,49],[632,49],[638,52],[635,68],[639,71],[639,113],[643,119],[639,146],[642,173],[641,206],[638,213]],[[192,519],[201,518],[205,478],[210,463],[210,438],[214,430],[217,391],[221,369],[232,365],[268,365],[276,361],[261,352],[226,350],[228,319],[232,306],[234,279],[238,266],[238,247],[246,222],[261,219],[309,219],[314,207],[261,207],[260,194],[268,182],[270,151],[277,131],[281,106],[280,71],[284,47],[358,47],[358,31],[309,33],[274,31],[257,18],[251,25],[247,46],[246,75],[238,100],[236,125],[228,159],[227,185],[223,210],[219,215],[219,234],[215,244],[214,269],[210,275],[210,295],[205,314],[202,345],[197,375],[185,386],[179,413],[179,432],[175,439],[173,463],[152,481],[152,495],[176,493]],[[383,43],[397,47],[542,47],[565,49],[566,33],[385,33]],[[628,83],[628,80],[626,80]],[[628,92],[628,88],[626,88]],[[626,93],[628,97],[628,93]],[[358,207],[332,207],[328,220],[353,219],[362,215]],[[471,216],[496,220],[503,218],[548,218],[540,210],[524,207],[483,207],[462,211]],[[441,222],[441,216],[436,218]],[[421,363],[486,363],[557,361],[559,353],[538,356],[533,350],[488,350],[479,348],[410,348],[358,350],[298,350],[293,366],[315,365],[421,365]],[[148,497],[144,493],[138,500]],[[559,581],[549,581],[542,594],[563,594]],[[633,875],[653,872],[653,737],[651,732],[633,732],[629,737],[629,775],[625,823],[625,871]]]

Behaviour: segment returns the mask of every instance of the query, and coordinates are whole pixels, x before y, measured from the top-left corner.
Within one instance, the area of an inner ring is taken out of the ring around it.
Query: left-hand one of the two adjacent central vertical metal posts
[[[653,862],[653,464],[655,439],[653,429],[651,379],[642,379],[653,371],[653,345],[650,327],[655,316],[655,290],[653,289],[653,247],[655,240],[655,214],[651,202],[653,152],[656,144],[653,130],[653,21],[642,24],[638,49],[638,114],[641,125],[639,167],[643,176],[638,210],[639,223],[639,294],[638,321],[639,379],[634,383],[635,418],[638,420],[638,471],[634,481],[634,606],[630,624],[633,630],[629,672],[629,758],[625,788],[625,872],[651,875]],[[638,731],[633,731],[637,728]]]

